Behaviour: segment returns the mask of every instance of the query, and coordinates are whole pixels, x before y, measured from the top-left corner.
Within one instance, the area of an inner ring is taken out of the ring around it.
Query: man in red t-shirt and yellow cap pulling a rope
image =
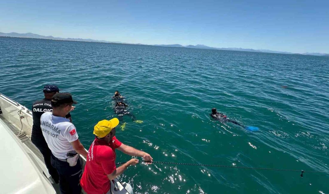
[[[115,127],[119,124],[117,118],[99,121],[94,127],[95,140],[91,143],[85,171],[80,180],[87,194],[111,193],[111,180],[119,176],[128,166],[136,165],[137,159],[131,159],[118,168],[115,167],[115,149],[131,155],[143,157],[144,161],[153,161],[146,152],[121,143],[115,138]]]

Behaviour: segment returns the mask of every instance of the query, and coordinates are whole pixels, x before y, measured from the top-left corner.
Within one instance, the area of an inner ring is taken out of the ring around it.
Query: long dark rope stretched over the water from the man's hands
[[[213,164],[189,164],[189,163],[177,163],[177,162],[156,162],[156,161],[141,161],[149,163],[162,163],[162,164],[181,164],[181,165],[194,165],[194,166],[213,166],[213,167],[225,167],[225,168],[244,168],[244,169],[257,169],[257,170],[277,170],[277,171],[298,171],[301,172],[300,176],[303,177],[304,172],[322,172],[329,173],[329,171],[310,171],[310,170],[292,170],[292,169],[278,169],[278,168],[258,168],[258,167],[246,167],[246,166],[226,166],[226,165],[213,165]],[[126,162],[120,162],[115,165],[123,164]]]

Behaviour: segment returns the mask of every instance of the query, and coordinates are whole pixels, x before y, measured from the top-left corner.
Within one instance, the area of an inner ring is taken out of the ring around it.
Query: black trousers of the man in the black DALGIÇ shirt
[[[50,158],[51,158],[51,150],[49,149],[46,140],[44,140],[44,138],[35,138],[35,137],[31,137],[31,141],[32,143],[39,149],[39,151],[41,152],[43,159],[44,159],[44,163],[46,164],[46,167],[48,169],[48,172],[50,174],[50,176],[54,179],[55,183],[59,182],[59,175],[58,172],[56,170],[56,168],[54,168],[51,165],[50,162]]]

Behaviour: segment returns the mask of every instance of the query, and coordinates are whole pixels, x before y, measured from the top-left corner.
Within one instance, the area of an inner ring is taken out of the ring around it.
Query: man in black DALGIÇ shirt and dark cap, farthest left
[[[44,98],[42,100],[38,100],[33,103],[32,106],[33,126],[32,126],[32,135],[31,135],[31,141],[43,155],[44,163],[46,164],[48,172],[51,175],[51,177],[54,179],[55,183],[58,183],[59,175],[56,168],[54,168],[50,162],[51,151],[48,148],[47,142],[44,140],[44,137],[42,135],[42,131],[40,127],[40,117],[45,112],[53,112],[53,108],[51,106],[50,101],[51,98],[58,92],[59,89],[57,86],[46,85],[43,88]],[[67,114],[66,118],[72,122],[70,114]]]

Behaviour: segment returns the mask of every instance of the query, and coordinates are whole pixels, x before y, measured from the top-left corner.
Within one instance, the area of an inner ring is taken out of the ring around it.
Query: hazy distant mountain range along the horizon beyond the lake
[[[41,38],[41,39],[51,39],[51,40],[69,40],[69,41],[84,41],[84,42],[106,42],[106,43],[132,44],[132,43],[126,43],[126,42],[119,42],[119,41],[42,36],[42,35],[34,34],[34,33],[16,33],[16,32],[2,33],[2,32],[0,32],[0,36],[18,37],[18,38]],[[144,44],[138,44],[138,45],[144,45]],[[150,45],[150,46],[184,47],[184,48],[193,48],[193,49],[214,49],[214,50],[227,50],[227,51],[248,51],[248,52],[260,52],[260,53],[298,54],[298,53],[289,53],[289,52],[282,52],[282,51],[271,51],[271,50],[266,50],[266,49],[215,48],[215,47],[208,47],[203,44],[197,44],[195,46],[194,45],[183,46],[180,44],[155,44],[155,45]],[[303,55],[329,56],[329,54],[325,54],[325,53],[303,53]]]

